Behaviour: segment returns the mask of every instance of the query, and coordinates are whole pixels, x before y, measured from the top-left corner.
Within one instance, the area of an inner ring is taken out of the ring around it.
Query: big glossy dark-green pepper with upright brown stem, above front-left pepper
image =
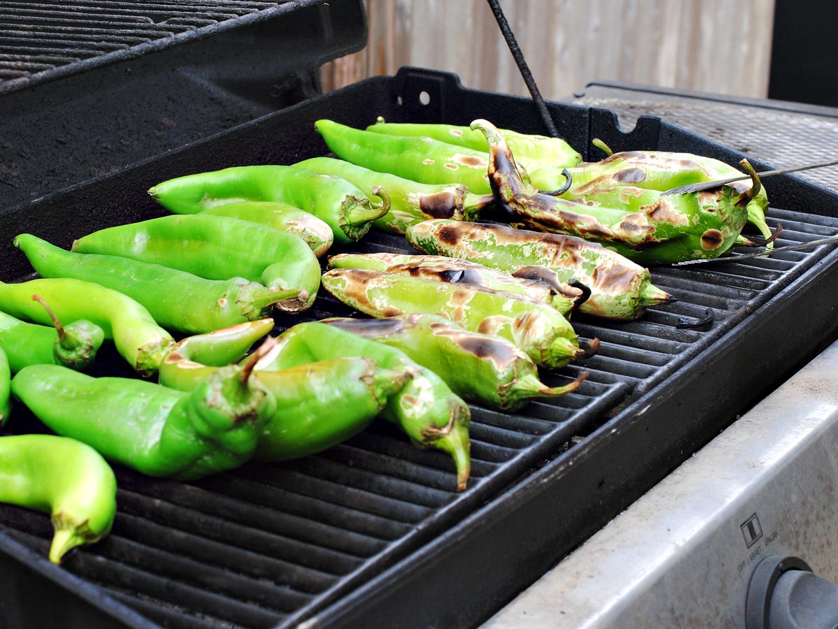
[[[261,348],[260,348],[261,349]],[[189,481],[242,465],[276,410],[251,369],[225,366],[192,392],[56,365],[24,367],[12,391],[49,429],[147,476]]]

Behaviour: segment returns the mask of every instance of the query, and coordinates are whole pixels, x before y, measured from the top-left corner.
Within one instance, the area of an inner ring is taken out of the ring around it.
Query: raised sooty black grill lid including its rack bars
[[[0,210],[303,101],[361,0],[0,0]]]

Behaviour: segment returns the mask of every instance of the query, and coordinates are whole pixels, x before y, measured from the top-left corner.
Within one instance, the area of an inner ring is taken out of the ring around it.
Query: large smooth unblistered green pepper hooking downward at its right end
[[[302,238],[228,216],[161,216],[95,231],[73,242],[73,252],[129,257],[199,278],[245,278],[282,293],[286,312],[311,308],[320,287],[320,263]]]

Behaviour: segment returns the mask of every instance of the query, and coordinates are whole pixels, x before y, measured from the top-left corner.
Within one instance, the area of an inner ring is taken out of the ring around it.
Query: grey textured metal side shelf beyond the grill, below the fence
[[[835,157],[838,109],[794,103],[722,101],[706,96],[645,91],[635,87],[592,84],[572,102],[616,112],[620,125],[634,127],[638,117],[657,116],[763,159],[776,168],[809,164]],[[796,174],[801,179],[838,190],[838,167]]]

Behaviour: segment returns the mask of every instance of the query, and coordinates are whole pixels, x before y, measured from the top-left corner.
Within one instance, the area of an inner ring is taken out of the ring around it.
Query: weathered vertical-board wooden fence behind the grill
[[[333,0],[339,2],[339,0]],[[738,96],[768,93],[773,0],[501,0],[541,93],[589,81]],[[323,67],[325,91],[402,65],[457,73],[468,87],[525,95],[485,0],[366,0],[364,50]]]

